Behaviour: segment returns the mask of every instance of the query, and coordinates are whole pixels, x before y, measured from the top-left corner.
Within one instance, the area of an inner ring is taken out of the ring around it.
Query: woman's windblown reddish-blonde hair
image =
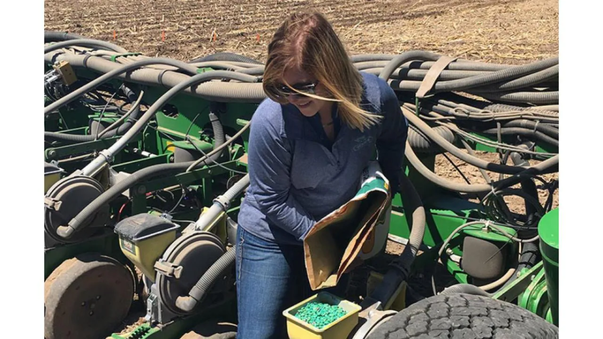
[[[292,14],[280,25],[268,45],[264,91],[278,103],[286,103],[286,97],[280,96],[275,88],[289,67],[298,67],[315,77],[330,97],[305,95],[337,102],[339,116],[351,128],[364,131],[380,118],[361,109],[362,75],[322,14],[316,11]]]

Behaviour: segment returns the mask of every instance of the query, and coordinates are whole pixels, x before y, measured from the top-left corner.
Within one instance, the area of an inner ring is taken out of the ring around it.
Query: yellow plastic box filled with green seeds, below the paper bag
[[[335,320],[335,322],[324,326],[322,329],[318,329],[295,317],[300,308],[311,302],[338,305],[347,313]],[[283,315],[287,318],[287,334],[289,335],[289,339],[344,339],[358,325],[358,312],[360,310],[361,307],[355,303],[339,299],[328,292],[319,292],[303,302],[285,309]]]

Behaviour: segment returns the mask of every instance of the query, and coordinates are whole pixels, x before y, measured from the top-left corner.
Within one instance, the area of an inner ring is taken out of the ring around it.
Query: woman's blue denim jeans
[[[328,291],[343,296],[347,274]],[[236,234],[237,339],[288,338],[285,309],[311,297],[303,246],[266,241],[238,227]]]

